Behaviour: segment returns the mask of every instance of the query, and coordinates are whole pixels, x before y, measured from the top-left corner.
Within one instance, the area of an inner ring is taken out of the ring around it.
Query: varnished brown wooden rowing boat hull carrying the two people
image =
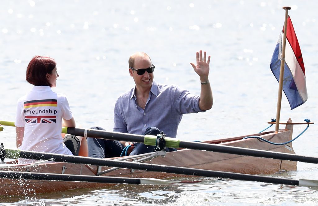
[[[243,139],[247,136],[259,136],[272,142],[287,142],[292,139],[293,124],[287,124],[285,129],[278,132],[269,131],[252,135],[245,135],[234,138],[205,141],[204,143],[218,144],[225,146],[235,146],[250,149],[259,149],[272,152],[282,152],[294,154],[291,143],[287,145],[272,145],[259,139]],[[242,156],[227,153],[208,152],[203,150],[190,150],[179,148],[175,152],[161,152],[145,154],[139,156],[129,156],[130,160],[158,165],[189,167],[197,169],[216,170],[224,172],[236,172],[243,174],[273,174],[280,171],[296,170],[297,162],[287,160],[277,160],[270,158],[260,158]],[[147,155],[157,155],[148,156]],[[127,157],[111,158],[124,160]],[[189,175],[152,172],[144,170],[119,169],[110,167],[100,167],[93,165],[83,165],[74,163],[44,163],[30,166],[15,166],[4,168],[3,171],[22,171],[34,173],[54,173],[54,174],[75,174],[75,175],[101,175],[114,177],[139,177],[139,178],[170,178],[189,177]],[[110,170],[110,171],[109,171]],[[25,179],[0,179],[0,195],[29,195],[34,193],[59,192],[77,188],[100,188],[109,186],[106,183],[90,182],[65,182],[48,180],[25,180]]]

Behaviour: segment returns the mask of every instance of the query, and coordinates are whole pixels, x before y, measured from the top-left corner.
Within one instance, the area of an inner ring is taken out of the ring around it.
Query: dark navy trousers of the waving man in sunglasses
[[[95,130],[104,130],[101,127],[91,127]],[[148,127],[143,135],[154,135],[160,134],[160,130],[156,127]],[[119,157],[121,155],[124,146],[117,140],[108,139],[96,139],[87,138],[88,144],[88,156],[95,158],[109,158],[109,157]],[[135,148],[129,155],[137,155],[143,153],[153,152],[155,146],[148,146],[142,143],[134,143]],[[176,151],[174,148],[166,148],[167,152]]]

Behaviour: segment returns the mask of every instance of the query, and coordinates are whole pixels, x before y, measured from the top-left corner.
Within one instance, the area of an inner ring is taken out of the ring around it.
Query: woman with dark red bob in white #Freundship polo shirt
[[[62,125],[75,127],[75,120],[66,96],[51,89],[56,87],[58,77],[54,59],[34,56],[30,61],[26,81],[34,87],[17,102],[17,147],[27,151],[88,156],[86,138],[62,137]]]

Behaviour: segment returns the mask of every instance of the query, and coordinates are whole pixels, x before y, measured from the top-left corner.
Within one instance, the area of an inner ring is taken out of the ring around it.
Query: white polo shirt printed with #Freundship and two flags
[[[21,150],[73,155],[61,136],[62,118],[73,117],[64,94],[35,86],[17,102],[15,125],[24,127]]]

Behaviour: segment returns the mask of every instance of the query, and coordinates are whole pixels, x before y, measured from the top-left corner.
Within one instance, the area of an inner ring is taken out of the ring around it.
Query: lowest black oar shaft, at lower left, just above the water
[[[140,178],[0,171],[0,178],[140,184]]]

